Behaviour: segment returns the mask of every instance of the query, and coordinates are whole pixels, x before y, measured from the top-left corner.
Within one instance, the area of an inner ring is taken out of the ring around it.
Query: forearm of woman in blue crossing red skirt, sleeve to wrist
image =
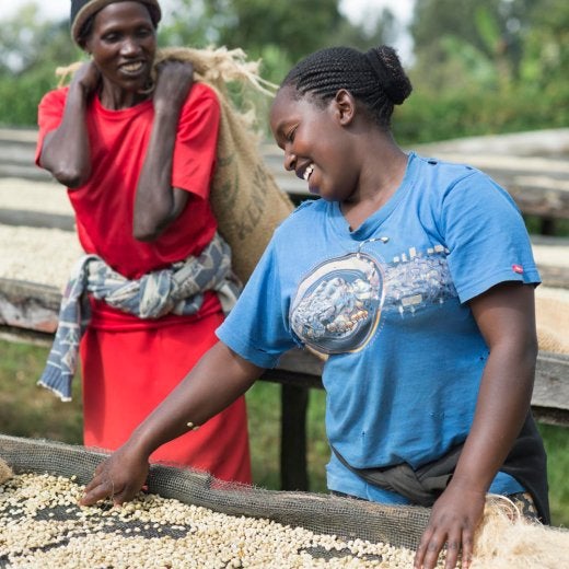
[[[129,446],[150,456],[160,445],[191,430],[191,425],[202,425],[231,405],[263,371],[218,342],[136,429]]]

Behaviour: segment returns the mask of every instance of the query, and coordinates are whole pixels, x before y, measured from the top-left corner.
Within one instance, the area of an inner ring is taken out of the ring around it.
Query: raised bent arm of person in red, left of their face
[[[93,62],[84,63],[74,73],[61,123],[46,135],[42,147],[39,165],[69,188],[82,186],[91,175],[85,109],[100,79],[100,72]]]

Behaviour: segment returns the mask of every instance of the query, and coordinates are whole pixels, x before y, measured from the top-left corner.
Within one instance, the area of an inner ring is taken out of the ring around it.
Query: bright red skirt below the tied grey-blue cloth
[[[85,446],[116,450],[218,339],[219,313],[188,324],[109,332],[90,327],[81,341]],[[245,398],[199,430],[158,449],[151,462],[252,483]]]

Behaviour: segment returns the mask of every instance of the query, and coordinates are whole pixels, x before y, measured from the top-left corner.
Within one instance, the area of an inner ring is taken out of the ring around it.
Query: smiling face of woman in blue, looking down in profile
[[[348,127],[353,117],[349,95],[327,105],[310,95],[297,98],[292,86],[281,89],[270,111],[270,128],[284,150],[284,169],[306,181],[309,190],[327,200],[345,201],[358,182],[358,162]]]

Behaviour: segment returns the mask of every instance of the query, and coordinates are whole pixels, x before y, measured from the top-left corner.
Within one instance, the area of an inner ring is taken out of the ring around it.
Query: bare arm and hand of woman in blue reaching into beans
[[[108,497],[116,504],[131,500],[144,484],[152,452],[191,430],[188,423],[199,426],[229,407],[263,371],[224,344],[216,344],[129,440],[96,468],[81,503],[90,506]]]

